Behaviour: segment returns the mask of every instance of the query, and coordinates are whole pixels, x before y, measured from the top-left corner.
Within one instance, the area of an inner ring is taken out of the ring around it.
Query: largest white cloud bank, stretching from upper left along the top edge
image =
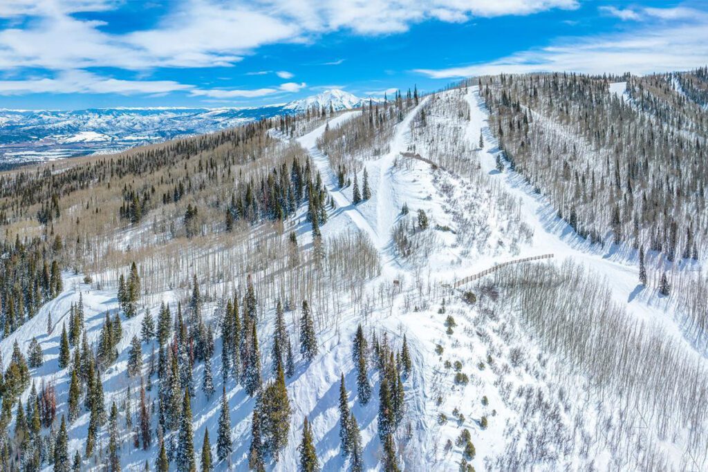
[[[0,69],[229,66],[262,45],[335,30],[388,34],[430,18],[525,15],[575,8],[578,0],[184,0],[171,2],[174,8],[151,30],[127,33],[108,33],[104,23],[72,16],[124,1],[0,0],[0,17],[28,18],[22,29],[0,31]]]

